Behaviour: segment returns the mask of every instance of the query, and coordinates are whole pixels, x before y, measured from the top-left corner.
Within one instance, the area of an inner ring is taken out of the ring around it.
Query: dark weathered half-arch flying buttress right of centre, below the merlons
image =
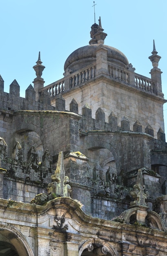
[[[95,130],[88,131],[87,136],[85,136],[88,149],[107,148],[112,152],[116,162],[117,175],[122,169],[125,172],[130,172],[143,168],[146,163],[150,166],[149,140],[150,138],[146,134],[130,131],[107,132]],[[136,147],[138,147],[138,152],[135,155]],[[147,154],[144,153],[144,149]]]

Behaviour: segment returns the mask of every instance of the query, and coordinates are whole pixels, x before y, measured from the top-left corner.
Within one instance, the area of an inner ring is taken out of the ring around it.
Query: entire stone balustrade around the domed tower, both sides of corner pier
[[[131,67],[132,69],[132,67]],[[109,76],[111,79],[116,81],[126,83],[137,89],[143,90],[145,92],[157,94],[156,92],[156,83],[146,76],[141,76],[136,74],[134,71],[120,67],[113,63],[108,63]],[[81,70],[73,72],[64,78],[51,83],[50,85],[45,86],[40,89],[40,92],[47,90],[51,97],[54,97],[62,92],[67,92],[72,88],[85,83],[89,79],[93,79],[96,76],[96,62],[82,68]]]

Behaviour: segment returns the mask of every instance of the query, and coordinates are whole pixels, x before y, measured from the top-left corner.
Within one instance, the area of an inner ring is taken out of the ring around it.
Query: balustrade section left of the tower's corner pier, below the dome
[[[51,97],[56,96],[62,92],[67,92],[69,89],[94,78],[96,76],[96,63],[91,64],[79,71],[80,72],[73,72],[64,78],[43,87],[40,89],[40,92],[47,90]]]

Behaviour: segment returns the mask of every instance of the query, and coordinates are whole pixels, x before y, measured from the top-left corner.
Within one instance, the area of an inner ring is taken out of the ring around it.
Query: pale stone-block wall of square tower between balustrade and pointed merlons
[[[136,90],[129,85],[114,83],[109,80],[96,79],[92,83],[84,83],[80,88],[75,88],[64,93],[66,109],[74,98],[78,103],[78,113],[82,114],[82,108],[87,103],[92,109],[92,117],[95,118],[96,110],[100,107],[105,112],[105,121],[108,122],[111,111],[118,117],[118,126],[126,116],[130,121],[130,130],[138,120],[144,127],[149,123],[156,133],[161,127],[164,130],[163,104],[165,101],[155,95],[147,94],[143,90]],[[144,129],[143,129],[144,132]]]

